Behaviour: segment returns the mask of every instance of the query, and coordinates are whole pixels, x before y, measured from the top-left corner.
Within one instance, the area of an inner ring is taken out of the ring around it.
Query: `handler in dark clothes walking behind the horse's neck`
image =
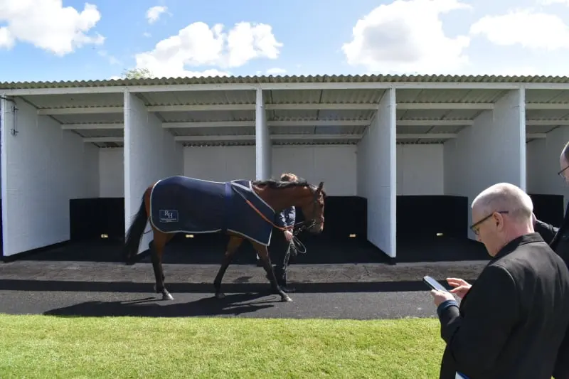
[[[297,181],[298,178],[294,174],[282,174],[281,181]],[[275,215],[275,225],[281,228],[294,226],[296,221],[296,208],[290,207],[283,209],[280,213]],[[294,288],[288,287],[287,271],[288,263],[285,262],[287,250],[290,249],[292,244],[292,230],[280,230],[272,228],[271,243],[269,246],[271,261],[275,263],[275,276],[277,283],[285,292],[294,292]]]

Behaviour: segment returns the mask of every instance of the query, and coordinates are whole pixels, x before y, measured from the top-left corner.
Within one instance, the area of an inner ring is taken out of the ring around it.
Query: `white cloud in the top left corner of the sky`
[[[0,48],[11,48],[17,41],[33,44],[55,55],[72,53],[87,44],[102,44],[105,38],[87,32],[100,20],[97,6],[85,3],[80,13],[61,0],[1,0]]]

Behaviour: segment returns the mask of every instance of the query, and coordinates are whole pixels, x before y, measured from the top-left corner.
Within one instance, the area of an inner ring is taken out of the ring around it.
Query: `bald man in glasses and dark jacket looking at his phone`
[[[509,183],[474,198],[471,228],[491,260],[474,284],[449,278],[452,293],[431,292],[447,343],[441,379],[551,378],[569,325],[569,270],[532,213]]]

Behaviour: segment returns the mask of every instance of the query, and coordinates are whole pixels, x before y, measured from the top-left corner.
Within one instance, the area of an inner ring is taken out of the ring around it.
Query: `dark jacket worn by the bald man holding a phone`
[[[550,379],[569,325],[569,269],[538,233],[509,242],[460,306],[437,307],[441,379]]]

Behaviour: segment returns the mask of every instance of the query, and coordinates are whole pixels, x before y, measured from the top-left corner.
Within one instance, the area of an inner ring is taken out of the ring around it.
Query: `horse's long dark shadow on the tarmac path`
[[[260,294],[228,294],[223,299],[207,297],[185,303],[162,301],[147,297],[132,301],[86,301],[84,303],[52,309],[43,314],[49,316],[147,316],[147,317],[196,317],[240,316],[241,314],[272,308],[280,302],[280,296],[259,299]],[[245,303],[245,304],[243,304]]]

